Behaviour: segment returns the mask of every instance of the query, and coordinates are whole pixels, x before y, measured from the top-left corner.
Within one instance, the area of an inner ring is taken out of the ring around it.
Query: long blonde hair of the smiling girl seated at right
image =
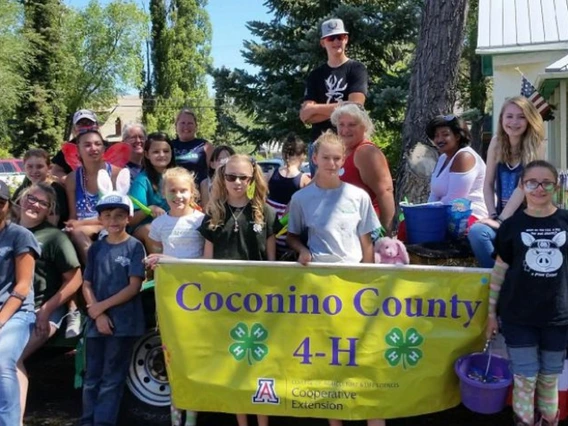
[[[497,123],[497,141],[500,149],[497,150],[498,162],[513,162],[513,152],[509,135],[503,129],[503,114],[509,105],[516,105],[521,109],[527,119],[527,129],[521,136],[519,152],[523,166],[539,159],[540,147],[544,143],[544,121],[535,106],[524,96],[509,98],[503,104]]]

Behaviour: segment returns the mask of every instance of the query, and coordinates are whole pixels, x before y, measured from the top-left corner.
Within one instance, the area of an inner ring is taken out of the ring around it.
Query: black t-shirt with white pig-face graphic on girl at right
[[[499,295],[501,319],[568,324],[568,211],[547,217],[517,212],[499,228],[495,251],[509,265]]]

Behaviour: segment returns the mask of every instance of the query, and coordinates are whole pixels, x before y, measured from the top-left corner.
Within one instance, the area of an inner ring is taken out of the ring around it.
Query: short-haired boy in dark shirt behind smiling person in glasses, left
[[[32,184],[45,182],[50,185],[56,194],[55,206],[51,210],[52,215],[49,221],[58,228],[65,227],[65,222],[69,219],[69,206],[67,205],[67,195],[65,188],[53,180],[50,169],[51,162],[49,154],[43,149],[30,149],[24,154],[24,171],[26,178],[22,184],[14,191],[12,200],[18,200],[22,193]]]

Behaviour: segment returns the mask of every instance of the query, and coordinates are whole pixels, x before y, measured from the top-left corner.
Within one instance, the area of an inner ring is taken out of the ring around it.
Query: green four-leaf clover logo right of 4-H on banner
[[[402,360],[402,366],[414,367],[422,359],[422,351],[418,346],[424,343],[424,337],[414,328],[406,331],[406,338],[400,328],[393,328],[385,337],[387,345],[392,346],[387,349],[385,358],[391,367],[396,367]]]

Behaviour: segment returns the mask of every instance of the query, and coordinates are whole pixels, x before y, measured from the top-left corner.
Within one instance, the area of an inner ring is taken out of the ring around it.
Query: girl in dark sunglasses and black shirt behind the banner
[[[266,204],[267,192],[262,169],[251,157],[235,154],[217,168],[199,228],[205,259],[276,260],[279,223]],[[259,426],[268,426],[267,416],[257,418]],[[247,415],[237,414],[237,422],[247,426]]]

